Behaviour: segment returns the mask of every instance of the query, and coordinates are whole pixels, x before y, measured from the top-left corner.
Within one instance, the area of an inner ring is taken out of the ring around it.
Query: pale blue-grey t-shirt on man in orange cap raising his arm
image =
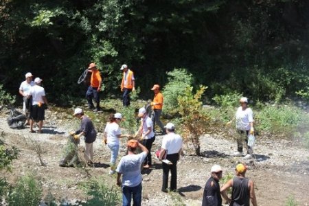
[[[126,155],[119,161],[116,171],[122,173],[122,185],[135,187],[141,183],[141,163],[147,152],[138,155]]]

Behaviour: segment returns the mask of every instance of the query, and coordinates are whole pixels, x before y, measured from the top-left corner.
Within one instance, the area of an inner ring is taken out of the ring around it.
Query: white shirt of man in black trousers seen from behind
[[[183,139],[180,135],[168,133],[163,137],[161,148],[168,150],[168,155],[178,153],[183,148]]]

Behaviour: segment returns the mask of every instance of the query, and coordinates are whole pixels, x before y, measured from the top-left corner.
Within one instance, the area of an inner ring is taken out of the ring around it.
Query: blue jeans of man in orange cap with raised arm
[[[141,206],[141,183],[135,187],[122,187],[122,205],[130,206],[133,196],[133,206]]]

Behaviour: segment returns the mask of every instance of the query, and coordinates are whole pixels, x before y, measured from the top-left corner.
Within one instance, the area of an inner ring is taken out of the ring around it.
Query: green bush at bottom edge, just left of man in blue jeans
[[[105,180],[89,179],[86,183],[82,184],[84,192],[91,196],[91,198],[82,205],[117,205],[120,201],[120,194],[113,186],[106,185]]]

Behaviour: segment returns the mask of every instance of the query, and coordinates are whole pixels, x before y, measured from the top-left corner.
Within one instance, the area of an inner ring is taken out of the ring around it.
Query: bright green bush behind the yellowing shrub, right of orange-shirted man
[[[178,98],[183,95],[185,89],[193,83],[193,76],[186,69],[174,69],[167,72],[168,84],[162,90],[164,97],[163,112],[177,113]]]

